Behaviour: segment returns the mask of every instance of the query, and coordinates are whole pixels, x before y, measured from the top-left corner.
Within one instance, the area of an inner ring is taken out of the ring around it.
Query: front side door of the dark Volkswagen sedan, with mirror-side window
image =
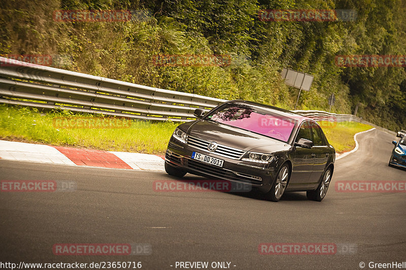
[[[313,141],[313,134],[310,121],[304,121],[296,135],[295,142],[299,139],[307,139]],[[314,149],[294,146],[294,162],[292,175],[290,177],[289,187],[304,187],[310,185],[310,177],[314,165]]]

